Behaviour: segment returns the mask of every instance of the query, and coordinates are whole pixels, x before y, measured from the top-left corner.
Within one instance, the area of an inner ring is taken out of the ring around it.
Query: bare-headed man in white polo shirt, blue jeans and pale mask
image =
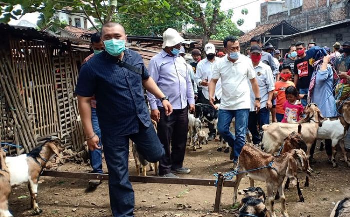
[[[223,41],[227,55],[213,67],[209,83],[210,104],[215,107],[214,93],[216,83],[221,78],[222,98],[219,110],[217,129],[220,135],[232,147],[233,168],[237,168],[239,154],[245,144],[245,133],[250,110],[251,83],[255,94],[255,107],[260,109],[260,93],[255,71],[251,60],[240,54],[239,42],[236,37],[228,36]],[[232,119],[235,118],[235,135],[229,131]]]

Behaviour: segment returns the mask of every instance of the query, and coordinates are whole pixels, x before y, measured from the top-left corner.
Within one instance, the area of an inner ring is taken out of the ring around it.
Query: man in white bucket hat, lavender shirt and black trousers
[[[183,160],[187,143],[188,110],[195,110],[194,92],[186,62],[178,55],[184,39],[175,29],[168,28],[163,33],[163,40],[163,49],[150,60],[148,72],[166,97],[159,100],[148,92],[148,100],[152,110],[151,118],[158,122],[158,137],[165,148],[165,156],[159,162],[159,175],[177,178],[173,173],[187,174],[191,171],[183,167]],[[173,106],[173,113],[169,116],[165,115],[161,103],[165,99]]]

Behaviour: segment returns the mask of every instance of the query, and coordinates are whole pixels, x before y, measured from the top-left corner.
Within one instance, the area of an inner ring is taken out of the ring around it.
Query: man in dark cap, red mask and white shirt
[[[255,110],[254,98],[252,93],[252,87],[250,86],[250,112],[248,120],[248,129],[253,137],[253,143],[259,144],[261,142],[259,132],[256,125],[259,124],[261,130],[262,125],[270,123],[270,111],[272,108],[272,95],[274,91],[274,79],[271,67],[261,62],[262,50],[259,45],[252,45],[250,58],[256,72],[256,79],[259,84],[259,91],[261,96],[261,108],[260,111]]]

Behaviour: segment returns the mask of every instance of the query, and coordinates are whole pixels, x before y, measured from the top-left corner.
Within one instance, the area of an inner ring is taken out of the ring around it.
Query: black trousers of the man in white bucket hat
[[[171,173],[171,169],[183,166],[188,132],[188,107],[174,109],[170,116],[165,115],[164,108],[158,109],[160,111],[158,137],[165,149],[165,155],[159,162],[161,176]]]

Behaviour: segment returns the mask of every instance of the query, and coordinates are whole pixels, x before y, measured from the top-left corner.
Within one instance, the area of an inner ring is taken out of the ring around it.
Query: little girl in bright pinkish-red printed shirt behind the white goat
[[[299,99],[299,92],[295,87],[289,86],[285,89],[285,96],[287,100],[284,102],[284,117],[283,123],[296,123],[301,119],[304,107]]]

